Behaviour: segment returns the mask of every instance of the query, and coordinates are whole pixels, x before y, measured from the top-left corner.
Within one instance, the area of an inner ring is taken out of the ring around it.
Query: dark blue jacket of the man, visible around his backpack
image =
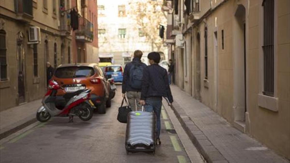
[[[139,58],[133,58],[132,62],[129,62],[126,64],[126,66],[124,68],[122,93],[126,93],[128,91],[141,92],[141,89],[136,90],[130,86],[131,85],[131,83],[130,83],[130,69],[133,66],[133,64],[141,64],[144,68],[147,66],[146,64],[142,63]]]

